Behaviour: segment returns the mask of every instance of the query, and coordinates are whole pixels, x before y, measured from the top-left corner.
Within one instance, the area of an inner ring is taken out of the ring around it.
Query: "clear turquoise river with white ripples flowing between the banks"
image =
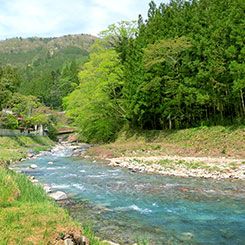
[[[70,214],[98,237],[120,244],[245,244],[244,181],[133,173],[70,153],[12,167],[66,192]]]

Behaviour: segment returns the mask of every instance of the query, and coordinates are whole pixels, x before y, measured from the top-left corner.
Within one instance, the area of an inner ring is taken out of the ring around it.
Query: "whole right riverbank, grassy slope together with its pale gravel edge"
[[[123,133],[114,143],[90,148],[85,157],[133,172],[245,179],[245,128]]]

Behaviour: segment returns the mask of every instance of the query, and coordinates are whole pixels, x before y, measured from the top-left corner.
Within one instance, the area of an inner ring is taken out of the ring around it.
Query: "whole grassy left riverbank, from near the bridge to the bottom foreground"
[[[81,244],[88,239],[93,245],[106,244],[89,229],[82,229],[41,185],[6,168],[26,157],[34,159],[54,145],[48,137],[0,137],[1,244]]]

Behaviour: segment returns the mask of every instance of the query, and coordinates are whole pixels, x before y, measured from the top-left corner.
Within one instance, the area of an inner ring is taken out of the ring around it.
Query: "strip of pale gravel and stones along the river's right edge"
[[[109,165],[179,177],[245,179],[245,159],[210,157],[118,157],[107,158]]]

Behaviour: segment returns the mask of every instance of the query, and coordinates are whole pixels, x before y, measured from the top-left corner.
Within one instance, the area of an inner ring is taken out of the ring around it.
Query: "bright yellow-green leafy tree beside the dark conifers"
[[[95,44],[94,50],[79,73],[79,87],[64,104],[82,140],[107,142],[115,138],[124,117],[120,98],[123,71],[113,49]]]

